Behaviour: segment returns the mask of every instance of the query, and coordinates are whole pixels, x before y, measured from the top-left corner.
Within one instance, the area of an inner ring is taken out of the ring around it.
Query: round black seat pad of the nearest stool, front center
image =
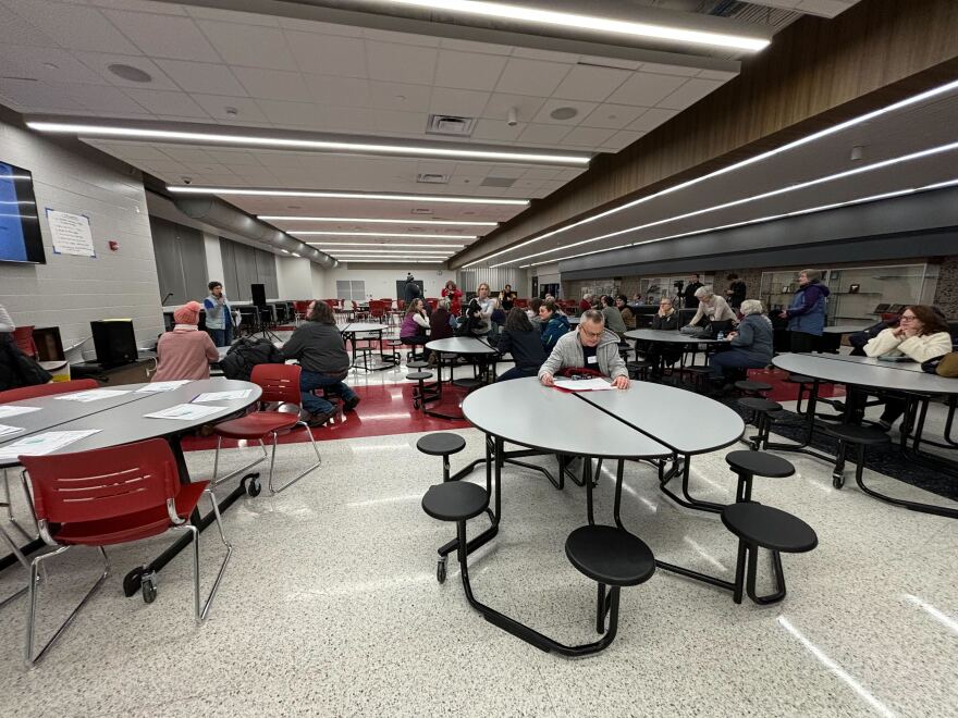
[[[638,585],[655,572],[652,550],[638,536],[616,527],[576,529],[566,538],[565,555],[582,574],[606,585]]]

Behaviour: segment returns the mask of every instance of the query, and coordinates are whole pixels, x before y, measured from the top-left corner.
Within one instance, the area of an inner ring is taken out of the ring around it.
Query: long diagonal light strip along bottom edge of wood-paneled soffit
[[[958,89],[958,79],[953,81],[950,83],[946,83],[944,85],[938,85],[937,87],[933,87],[932,89],[925,90],[924,92],[919,92],[918,95],[912,95],[911,97],[905,98],[904,100],[899,100],[898,102],[893,102],[892,104],[885,106],[884,108],[880,108],[877,110],[873,110],[872,112],[867,112],[865,114],[858,115],[857,117],[852,117],[850,120],[846,120],[845,122],[839,122],[837,125],[833,125],[831,127],[825,127],[824,129],[820,129],[819,132],[812,133],[811,135],[807,135],[805,137],[800,137],[794,141],[782,145],[781,147],[776,147],[775,149],[769,150],[767,152],[762,152],[760,154],[756,154],[747,160],[741,160],[740,162],[735,162],[734,164],[729,164],[728,166],[722,168],[720,170],[715,170],[714,172],[710,172],[708,174],[703,174],[699,177],[693,177],[692,180],[688,180],[686,182],[680,182],[677,185],[673,185],[671,187],[666,187],[660,191],[653,193],[651,195],[647,195],[646,197],[640,197],[639,199],[635,199],[630,202],[626,202],[625,205],[619,205],[618,207],[614,207],[604,212],[600,212],[599,214],[593,214],[591,216],[587,216],[578,222],[573,222],[572,224],[567,224],[566,226],[558,227],[556,230],[552,230],[546,232],[545,234],[541,234],[537,237],[532,237],[531,239],[527,239],[526,242],[515,245],[514,247],[509,247],[508,249],[503,249],[493,255],[489,255],[483,257],[482,259],[477,259],[474,262],[469,262],[468,264],[464,264],[463,269],[468,267],[472,267],[474,264],[479,264],[481,262],[486,262],[490,259],[494,259],[495,257],[501,257],[502,255],[506,255],[511,251],[515,251],[516,249],[520,249],[528,245],[531,245],[536,242],[541,242],[542,239],[548,239],[549,237],[554,237],[557,234],[562,234],[563,232],[568,232],[578,226],[582,226],[584,224],[589,224],[590,222],[595,222],[597,220],[601,220],[606,216],[611,216],[613,214],[617,214],[618,212],[623,212],[632,207],[638,207],[644,202],[651,201],[659,197],[663,197],[665,195],[670,195],[674,191],[678,191],[680,189],[687,189],[688,187],[693,187],[707,180],[713,180],[714,177],[720,177],[723,174],[728,174],[729,172],[735,172],[737,170],[741,170],[742,168],[747,168],[751,164],[757,164],[759,162],[764,162],[765,160],[775,157],[776,154],[782,154],[783,152],[788,152],[798,147],[803,147],[810,143],[814,143],[823,137],[828,137],[830,135],[834,135],[844,129],[848,129],[849,127],[855,127],[856,125],[860,125],[862,123],[874,120],[875,117],[880,117],[883,114],[887,114],[889,112],[895,112],[897,110],[901,110],[904,108],[910,107],[918,102],[923,102],[924,100],[931,99],[933,97],[937,97],[939,95],[944,95],[950,92],[951,90]]]

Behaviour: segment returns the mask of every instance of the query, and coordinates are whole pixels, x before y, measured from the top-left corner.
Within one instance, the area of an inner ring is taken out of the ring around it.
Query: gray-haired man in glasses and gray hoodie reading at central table
[[[539,369],[539,381],[552,386],[558,371],[581,368],[611,376],[616,388],[629,386],[628,370],[618,354],[618,335],[605,329],[605,318],[597,309],[582,314],[575,332],[558,338],[549,359]]]

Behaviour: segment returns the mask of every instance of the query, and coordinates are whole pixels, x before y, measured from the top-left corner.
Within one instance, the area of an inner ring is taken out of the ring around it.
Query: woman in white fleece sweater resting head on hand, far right
[[[928,361],[951,351],[951,334],[948,324],[932,308],[924,305],[906,307],[898,326],[882,330],[864,345],[870,357],[905,355],[914,361]],[[905,413],[902,399],[888,398],[879,423],[888,431]]]

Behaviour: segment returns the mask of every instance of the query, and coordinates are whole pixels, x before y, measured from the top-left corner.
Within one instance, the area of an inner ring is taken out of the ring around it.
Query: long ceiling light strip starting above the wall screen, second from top
[[[212,143],[217,145],[253,145],[283,149],[324,150],[328,152],[356,152],[372,154],[404,154],[409,157],[450,157],[463,160],[490,160],[494,162],[540,162],[549,164],[586,165],[591,158],[584,154],[543,154],[538,152],[509,152],[493,150],[454,149],[451,147],[416,147],[414,145],[380,145],[373,143],[333,143],[320,139],[293,139],[285,137],[257,137],[230,133],[183,132],[179,129],[148,129],[145,127],[107,127],[70,122],[27,122],[37,132],[72,134],[94,137],[127,137],[153,140]]]

